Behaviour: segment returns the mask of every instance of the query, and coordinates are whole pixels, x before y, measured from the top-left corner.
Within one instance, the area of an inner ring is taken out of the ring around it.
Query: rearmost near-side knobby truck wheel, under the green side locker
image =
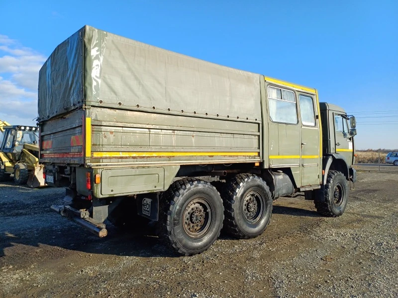
[[[163,193],[159,205],[158,235],[178,253],[199,254],[218,238],[224,207],[220,194],[209,182],[197,178],[177,180]],[[194,211],[197,209],[198,216]],[[199,221],[197,226],[195,219]]]

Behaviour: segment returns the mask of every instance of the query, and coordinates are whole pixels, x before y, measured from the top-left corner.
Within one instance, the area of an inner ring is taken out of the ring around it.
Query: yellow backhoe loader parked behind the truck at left
[[[31,188],[44,186],[43,166],[39,163],[39,128],[10,125],[0,120],[0,181],[14,175],[16,184]]]

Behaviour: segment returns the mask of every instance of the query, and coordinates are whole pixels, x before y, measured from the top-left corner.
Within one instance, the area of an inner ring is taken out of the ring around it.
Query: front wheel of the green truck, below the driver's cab
[[[322,185],[314,201],[316,211],[326,217],[338,217],[344,213],[347,201],[348,185],[345,176],[339,171],[330,170],[326,184]]]

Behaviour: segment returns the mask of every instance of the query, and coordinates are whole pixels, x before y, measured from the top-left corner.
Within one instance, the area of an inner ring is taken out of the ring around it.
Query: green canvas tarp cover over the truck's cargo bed
[[[41,68],[38,120],[83,105],[260,121],[260,74],[85,26]]]

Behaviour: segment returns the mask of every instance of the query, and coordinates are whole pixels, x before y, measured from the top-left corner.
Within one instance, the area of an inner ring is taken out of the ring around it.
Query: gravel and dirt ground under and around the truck
[[[259,237],[180,257],[148,230],[100,239],[53,213],[63,189],[0,184],[2,297],[398,297],[398,174],[359,173],[343,216],[280,198]]]

